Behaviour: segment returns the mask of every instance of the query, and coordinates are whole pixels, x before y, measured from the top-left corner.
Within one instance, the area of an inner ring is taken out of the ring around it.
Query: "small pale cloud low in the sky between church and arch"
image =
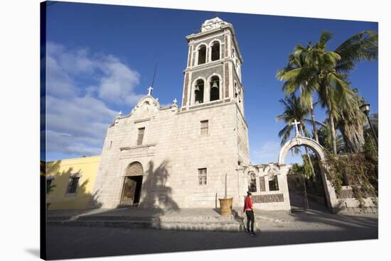
[[[267,141],[260,148],[251,150],[251,159],[255,160],[255,164],[264,164],[269,162],[277,162],[281,146],[279,142]]]

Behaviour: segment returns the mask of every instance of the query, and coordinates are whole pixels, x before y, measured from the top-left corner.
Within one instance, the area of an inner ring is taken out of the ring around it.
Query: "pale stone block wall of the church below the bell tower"
[[[132,162],[140,162],[144,169],[139,206],[219,207],[218,198],[225,196],[225,177],[227,196],[234,196],[234,205],[241,206],[237,106],[227,102],[178,112],[157,106],[145,106],[147,110],[141,104],[107,131],[95,184],[103,207],[118,206],[124,173]],[[201,135],[200,121],[205,120],[208,135]],[[137,146],[141,127],[145,128],[143,145]],[[201,168],[207,169],[206,185],[198,182]]]

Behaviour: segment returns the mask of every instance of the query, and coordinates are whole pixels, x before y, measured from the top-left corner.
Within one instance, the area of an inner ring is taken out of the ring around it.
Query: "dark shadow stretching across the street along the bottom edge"
[[[48,236],[50,248],[48,259],[249,248],[375,238],[377,238],[377,230],[360,227],[343,229],[343,231],[338,231],[338,229],[328,231],[279,229],[262,231],[255,238],[247,233],[157,231],[130,228],[67,228],[63,230],[55,227]]]

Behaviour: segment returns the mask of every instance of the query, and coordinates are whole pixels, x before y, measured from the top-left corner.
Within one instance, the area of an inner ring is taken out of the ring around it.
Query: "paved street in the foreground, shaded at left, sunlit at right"
[[[128,213],[134,211],[128,211]],[[140,212],[147,215],[147,211]],[[139,214],[140,214],[139,213]],[[48,259],[157,252],[247,248],[267,245],[377,239],[377,215],[327,211],[256,213],[261,232],[165,231],[140,228],[48,226]]]

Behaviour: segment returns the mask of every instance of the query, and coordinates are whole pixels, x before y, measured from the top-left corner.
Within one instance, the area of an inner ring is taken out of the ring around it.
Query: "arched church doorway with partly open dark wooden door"
[[[132,162],[125,170],[120,206],[138,205],[144,169],[140,162]]]

